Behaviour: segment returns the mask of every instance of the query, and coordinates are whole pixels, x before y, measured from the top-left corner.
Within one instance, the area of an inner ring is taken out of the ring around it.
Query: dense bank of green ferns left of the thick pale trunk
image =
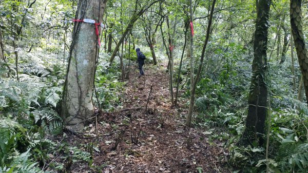
[[[64,75],[58,61],[42,61],[50,58],[42,52],[22,54],[19,81],[0,70],[0,172],[44,172],[40,167],[50,147],[46,136],[62,132],[55,108]],[[10,59],[7,65],[14,69]]]

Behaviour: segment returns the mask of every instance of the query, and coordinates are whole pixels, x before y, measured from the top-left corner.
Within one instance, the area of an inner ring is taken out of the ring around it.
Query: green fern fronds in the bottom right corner
[[[278,158],[283,172],[307,172],[308,143],[282,145],[279,149]]]

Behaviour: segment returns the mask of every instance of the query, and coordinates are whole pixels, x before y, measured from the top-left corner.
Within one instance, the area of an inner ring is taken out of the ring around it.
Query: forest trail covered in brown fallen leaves
[[[222,147],[209,142],[201,129],[184,130],[186,109],[171,108],[165,69],[146,65],[146,75],[138,78],[138,69],[132,67],[121,99],[123,109],[102,113],[96,134],[93,125],[86,140],[72,140],[99,144],[93,164],[102,172],[227,172],[221,166]],[[85,172],[85,167],[78,167],[73,172]]]

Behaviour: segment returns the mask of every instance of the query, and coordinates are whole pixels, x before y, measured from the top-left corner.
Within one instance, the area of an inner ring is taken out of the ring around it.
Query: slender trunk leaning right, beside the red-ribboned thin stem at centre
[[[188,108],[188,113],[187,113],[187,117],[186,117],[186,127],[190,128],[191,127],[191,118],[192,118],[192,112],[194,111],[194,105],[195,105],[195,94],[196,94],[196,87],[197,87],[197,82],[202,70],[202,65],[203,65],[203,60],[204,60],[204,54],[205,54],[205,48],[206,45],[208,43],[208,39],[209,39],[209,34],[210,34],[210,27],[211,27],[211,23],[212,23],[212,19],[213,19],[213,13],[214,13],[214,7],[215,7],[215,3],[216,0],[213,0],[211,9],[210,9],[210,13],[209,13],[209,18],[208,18],[208,24],[207,24],[207,29],[206,29],[206,36],[205,36],[205,41],[204,41],[204,45],[202,48],[202,52],[201,52],[201,59],[200,59],[200,63],[199,63],[199,68],[196,74],[196,78],[194,80],[194,85],[192,85],[191,91],[190,91],[190,102],[189,102],[189,108]],[[191,34],[192,36],[192,34]]]

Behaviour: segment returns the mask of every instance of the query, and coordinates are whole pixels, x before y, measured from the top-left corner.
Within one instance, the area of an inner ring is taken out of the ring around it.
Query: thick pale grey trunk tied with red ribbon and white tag
[[[81,0],[75,18],[102,22],[106,2],[107,0]],[[61,113],[66,128],[73,131],[82,130],[84,123],[94,113],[92,90],[97,52],[95,26],[75,23]]]

